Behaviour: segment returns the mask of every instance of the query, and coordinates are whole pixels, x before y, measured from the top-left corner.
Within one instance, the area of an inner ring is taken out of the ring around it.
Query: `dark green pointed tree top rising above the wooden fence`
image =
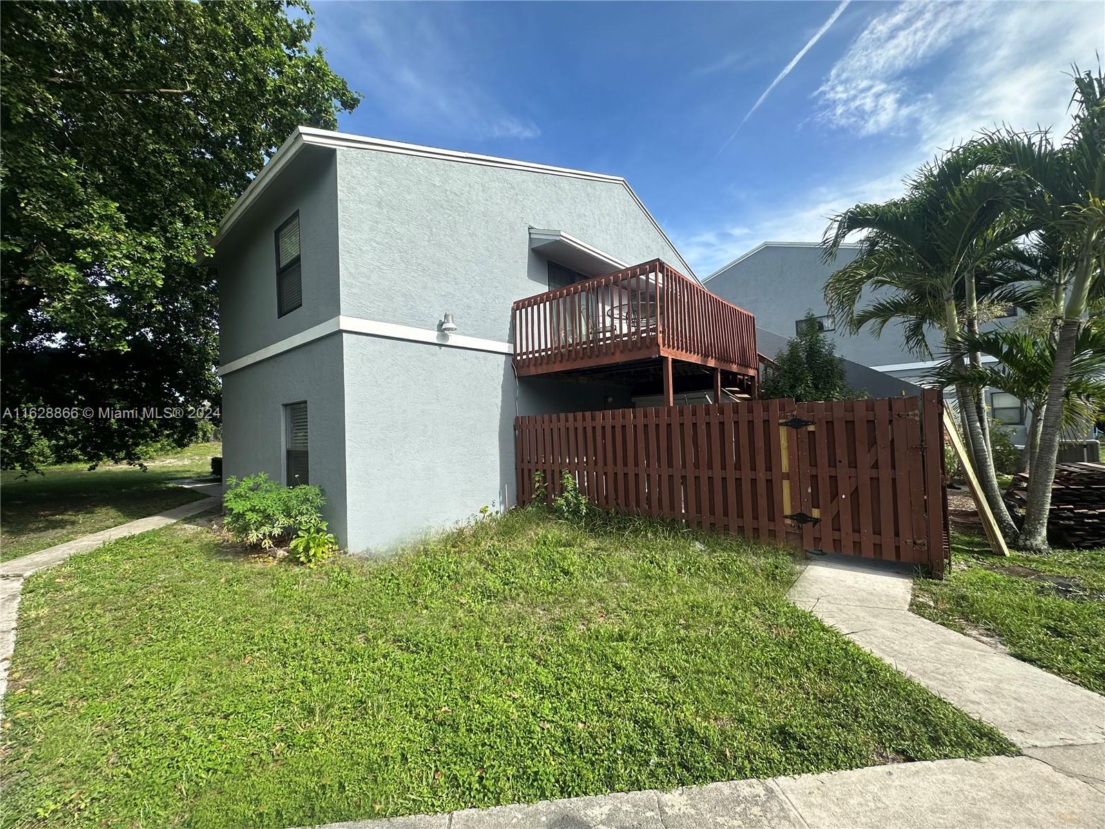
[[[775,357],[760,386],[760,397],[792,397],[796,400],[851,400],[857,397],[848,387],[844,358],[818,327],[813,312],[807,312],[800,330]]]

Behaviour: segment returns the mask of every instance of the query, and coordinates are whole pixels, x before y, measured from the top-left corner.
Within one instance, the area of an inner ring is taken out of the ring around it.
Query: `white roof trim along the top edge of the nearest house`
[[[281,145],[281,148],[276,150],[275,155],[269,159],[269,162],[261,168],[261,171],[253,178],[250,186],[245,188],[245,191],[239,197],[238,201],[234,202],[233,207],[227,212],[222,221],[219,222],[219,232],[215,235],[214,244],[218,244],[222,239],[230,232],[231,228],[241,219],[242,214],[250,208],[250,206],[257,199],[257,197],[264,191],[269,186],[272,178],[283,168],[292,158],[294,158],[298,151],[306,145],[312,145],[316,147],[330,147],[337,148],[351,148],[351,149],[372,149],[379,153],[398,153],[400,155],[408,156],[420,156],[422,158],[435,158],[444,161],[460,161],[462,164],[476,164],[484,167],[501,167],[511,170],[524,170],[527,172],[544,172],[549,176],[567,176],[569,178],[586,179],[588,181],[604,181],[609,183],[621,185],[625,188],[625,191],[633,198],[638,207],[644,212],[652,222],[652,225],[656,229],[656,232],[663,238],[667,245],[675,251],[675,255],[678,256],[680,264],[684,269],[684,272],[694,280],[698,277],[695,276],[694,271],[691,270],[691,265],[687,264],[686,260],[678,252],[678,249],[672,243],[672,240],[667,238],[663,228],[655,220],[652,213],[649,212],[649,208],[644,206],[641,198],[633,191],[633,188],[629,186],[629,182],[621,176],[608,176],[602,172],[588,172],[587,170],[575,170],[569,167],[554,167],[546,164],[536,164],[534,161],[518,161],[513,158],[499,158],[497,156],[482,156],[476,153],[462,153],[454,149],[442,149],[440,147],[428,147],[421,144],[403,144],[402,141],[389,141],[383,138],[370,138],[362,135],[352,135],[351,133],[336,133],[329,129],[318,129],[316,127],[296,127],[292,135],[287,137],[287,140]]]

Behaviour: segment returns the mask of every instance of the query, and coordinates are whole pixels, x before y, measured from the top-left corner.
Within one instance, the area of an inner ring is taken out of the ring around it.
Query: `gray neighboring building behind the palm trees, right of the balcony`
[[[807,312],[812,311],[822,329],[833,338],[836,354],[845,360],[875,369],[911,387],[923,385],[925,374],[938,360],[920,359],[912,354],[896,325],[887,325],[880,336],[875,336],[870,326],[859,334],[850,334],[836,326],[825,308],[822,293],[825,280],[833,271],[855,259],[859,250],[856,244],[842,245],[835,261],[827,263],[817,242],[764,242],[707,276],[703,284],[723,300],[738,302],[735,297],[739,297],[740,306],[756,315],[761,332],[767,329],[791,336],[803,324]],[[1015,308],[1004,322],[1014,317]],[[998,321],[989,326],[1000,324],[1002,322]],[[934,351],[939,350],[939,342],[932,336],[929,345]],[[761,350],[765,356],[771,356],[767,342],[761,344]],[[865,382],[862,387],[872,397],[894,396],[881,390],[876,392],[876,389],[883,388],[882,384],[873,381],[870,375],[863,377]],[[849,378],[852,384],[851,371]],[[856,379],[860,379],[859,375]],[[1012,395],[990,389],[987,390],[987,405],[996,419],[1010,427],[1013,442],[1023,444],[1030,417],[1021,401]]]

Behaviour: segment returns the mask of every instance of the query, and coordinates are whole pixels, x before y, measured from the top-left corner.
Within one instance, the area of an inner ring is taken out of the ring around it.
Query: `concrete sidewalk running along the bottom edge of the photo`
[[[1031,757],[872,766],[325,829],[1099,829],[1105,793]]]

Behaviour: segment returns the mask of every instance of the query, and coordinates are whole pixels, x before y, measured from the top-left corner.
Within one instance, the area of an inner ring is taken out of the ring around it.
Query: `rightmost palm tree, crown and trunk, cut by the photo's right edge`
[[[1090,301],[1103,291],[1105,271],[1105,77],[1074,70],[1074,126],[1060,146],[1046,132],[1003,130],[987,136],[983,164],[1021,176],[1031,189],[1022,203],[1038,227],[1059,240],[1062,317],[1057,325],[1036,464],[1029,479],[1024,525],[1019,538],[1027,549],[1048,548],[1048,513],[1063,417],[1063,400],[1080,330]]]

